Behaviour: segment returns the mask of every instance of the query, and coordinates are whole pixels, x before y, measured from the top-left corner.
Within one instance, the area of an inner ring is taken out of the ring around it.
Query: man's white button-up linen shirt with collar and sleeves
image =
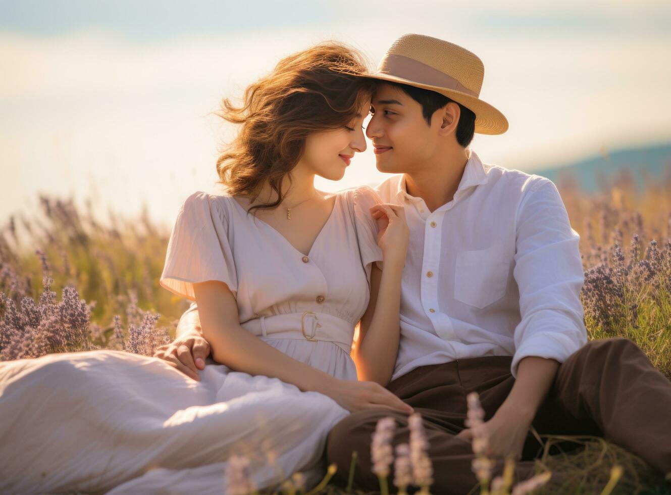
[[[405,206],[401,339],[392,379],[487,355],[562,363],[587,342],[578,242],[550,179],[483,164],[470,152],[454,199],[430,212],[405,175],[375,189]]]

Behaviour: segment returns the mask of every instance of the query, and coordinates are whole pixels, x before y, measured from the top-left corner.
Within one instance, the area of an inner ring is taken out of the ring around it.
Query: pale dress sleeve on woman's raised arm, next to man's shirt
[[[366,186],[357,187],[354,190],[354,225],[359,242],[361,263],[366,270],[366,277],[370,281],[370,270],[372,263],[382,261],[382,249],[377,243],[378,224],[370,216],[369,208],[374,204],[383,203],[382,199],[371,188]],[[378,266],[381,265],[378,263]]]

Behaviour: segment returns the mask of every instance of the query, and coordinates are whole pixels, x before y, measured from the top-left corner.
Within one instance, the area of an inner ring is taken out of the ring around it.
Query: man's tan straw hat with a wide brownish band
[[[475,114],[475,132],[503,134],[508,120],[480,99],[484,65],[476,54],[448,41],[404,34],[382,58],[377,72],[364,77],[436,91]]]

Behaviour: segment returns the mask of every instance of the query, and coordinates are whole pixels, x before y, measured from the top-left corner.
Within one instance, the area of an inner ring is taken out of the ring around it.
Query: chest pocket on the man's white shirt
[[[454,299],[484,308],[503,298],[512,261],[500,244],[487,249],[458,251],[454,271]]]

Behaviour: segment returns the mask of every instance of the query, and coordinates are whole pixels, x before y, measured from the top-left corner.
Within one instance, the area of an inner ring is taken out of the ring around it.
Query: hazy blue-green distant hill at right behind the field
[[[584,191],[595,192],[601,189],[599,177],[611,179],[622,169],[631,170],[638,189],[642,189],[646,175],[661,178],[666,170],[671,173],[671,144],[609,151],[573,163],[535,169],[529,173],[548,177],[554,183],[561,181],[564,175],[573,175]]]

